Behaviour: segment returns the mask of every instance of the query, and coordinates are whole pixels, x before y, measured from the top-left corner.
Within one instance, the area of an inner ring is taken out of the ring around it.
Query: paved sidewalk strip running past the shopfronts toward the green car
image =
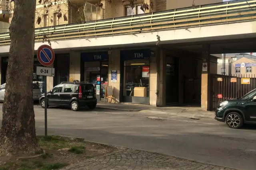
[[[214,118],[214,111],[203,111],[200,107],[154,107],[150,105],[138,105],[138,104],[109,104],[98,102],[97,108],[99,109],[112,109],[119,111],[136,111],[140,113],[149,113],[150,115],[154,114],[155,117],[160,117],[161,114],[164,115],[175,115],[181,117],[189,117],[194,119],[202,118]]]

